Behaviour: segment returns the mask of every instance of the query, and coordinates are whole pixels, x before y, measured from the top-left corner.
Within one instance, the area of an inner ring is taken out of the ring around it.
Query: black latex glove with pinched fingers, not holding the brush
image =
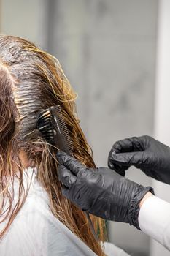
[[[125,176],[131,165],[147,176],[170,184],[170,148],[150,136],[119,140],[112,146],[109,168]]]

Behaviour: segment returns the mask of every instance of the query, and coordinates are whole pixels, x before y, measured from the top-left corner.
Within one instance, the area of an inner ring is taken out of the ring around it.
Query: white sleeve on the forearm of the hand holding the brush
[[[170,250],[170,203],[148,197],[139,211],[139,227]]]

